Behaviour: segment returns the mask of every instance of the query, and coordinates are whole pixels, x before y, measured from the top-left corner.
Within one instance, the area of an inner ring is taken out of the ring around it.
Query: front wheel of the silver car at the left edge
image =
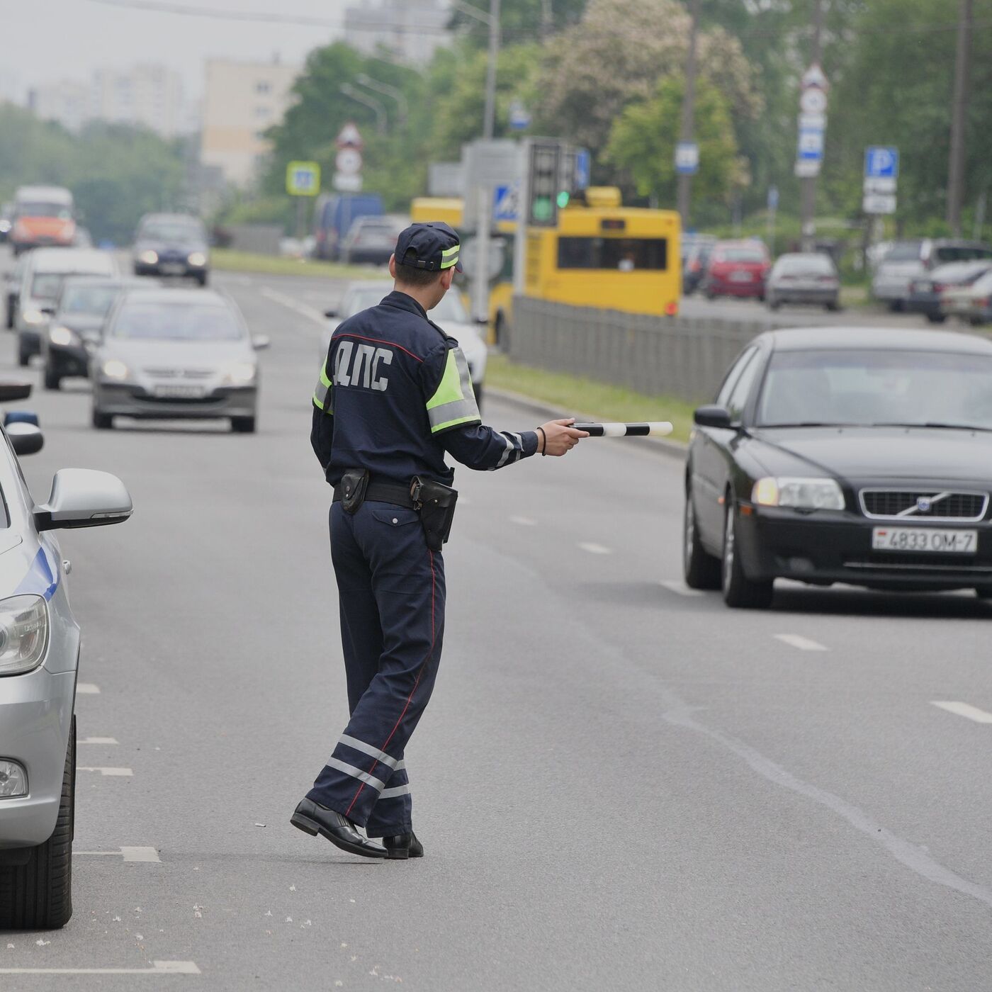
[[[75,784],[75,717],[62,771],[62,801],[52,836],[28,862],[0,868],[0,928],[58,930],[72,916],[72,828]]]

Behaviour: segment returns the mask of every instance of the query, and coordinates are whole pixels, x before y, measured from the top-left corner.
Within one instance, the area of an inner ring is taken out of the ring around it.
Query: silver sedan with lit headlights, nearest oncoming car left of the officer
[[[132,290],[115,304],[90,362],[93,427],[115,415],[182,420],[228,417],[252,434],[259,371],[241,312],[227,297],[203,290]]]

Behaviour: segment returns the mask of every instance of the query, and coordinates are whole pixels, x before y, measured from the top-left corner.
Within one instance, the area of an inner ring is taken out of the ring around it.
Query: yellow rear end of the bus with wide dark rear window
[[[681,223],[674,210],[620,205],[619,190],[588,190],[565,206],[555,228],[527,232],[528,297],[631,313],[675,316],[682,295]]]

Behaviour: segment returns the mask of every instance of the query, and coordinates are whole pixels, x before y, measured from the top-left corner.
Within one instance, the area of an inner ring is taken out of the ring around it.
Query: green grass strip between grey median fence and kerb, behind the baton
[[[550,407],[587,414],[600,421],[671,421],[675,440],[688,440],[695,404],[671,396],[646,396],[623,386],[595,382],[566,372],[546,372],[491,354],[486,385],[540,400]]]

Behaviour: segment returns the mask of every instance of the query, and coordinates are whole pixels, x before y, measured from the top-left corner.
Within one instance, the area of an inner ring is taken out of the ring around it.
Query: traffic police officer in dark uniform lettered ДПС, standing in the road
[[[521,434],[482,425],[464,355],[428,317],[460,271],[458,252],[447,224],[403,231],[389,263],[393,292],[340,323],[313,396],[310,441],[334,486],[330,547],[351,719],[292,822],[366,857],[424,854],[404,752],[437,674],[444,563],[416,484],[450,492],[445,451],[496,469],[539,451],[564,454],[587,436],[567,420]]]

